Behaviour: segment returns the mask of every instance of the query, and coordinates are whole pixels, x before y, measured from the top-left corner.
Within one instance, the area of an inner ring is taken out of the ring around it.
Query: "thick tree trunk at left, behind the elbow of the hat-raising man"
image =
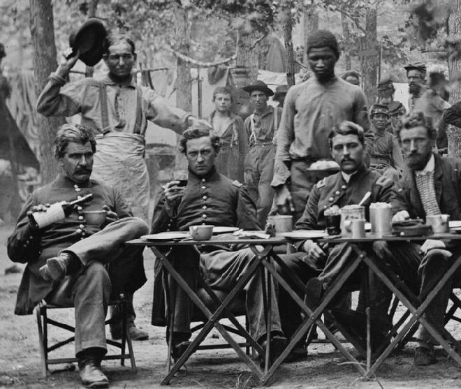
[[[57,68],[56,45],[54,45],[54,25],[52,0],[30,0],[30,29],[34,48],[34,74],[37,96],[45,86],[48,76]],[[56,131],[64,124],[61,117],[38,115],[38,128],[41,130],[40,155],[43,184],[51,182],[57,175],[54,159],[53,141]]]

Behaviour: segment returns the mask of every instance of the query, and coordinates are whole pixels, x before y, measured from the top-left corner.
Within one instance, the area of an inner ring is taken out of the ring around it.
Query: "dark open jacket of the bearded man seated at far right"
[[[461,219],[461,159],[448,159],[434,155],[434,185],[442,214],[449,214],[451,220]],[[390,203],[393,213],[407,210],[411,219],[425,219],[414,172],[404,170],[402,179],[395,184]]]

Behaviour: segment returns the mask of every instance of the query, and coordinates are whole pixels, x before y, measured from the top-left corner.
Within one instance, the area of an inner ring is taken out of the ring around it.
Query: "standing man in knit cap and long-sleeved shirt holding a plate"
[[[339,47],[327,30],[307,38],[307,59],[314,77],[288,90],[277,133],[277,153],[272,187],[275,205],[291,205],[293,221],[304,211],[309,193],[328,173],[309,171],[312,163],[332,159],[328,136],[332,128],[349,120],[365,129],[365,149],[371,149],[367,99],[360,87],[335,75]]]

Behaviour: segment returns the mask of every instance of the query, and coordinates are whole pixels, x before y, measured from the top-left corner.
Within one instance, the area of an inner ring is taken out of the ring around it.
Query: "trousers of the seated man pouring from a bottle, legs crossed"
[[[124,242],[148,230],[141,219],[124,218],[61,250],[77,256],[82,266],[79,272],[56,282],[45,300],[75,307],[75,355],[87,348],[107,350],[104,323],[111,296],[133,293],[147,281],[143,248],[128,247]]]

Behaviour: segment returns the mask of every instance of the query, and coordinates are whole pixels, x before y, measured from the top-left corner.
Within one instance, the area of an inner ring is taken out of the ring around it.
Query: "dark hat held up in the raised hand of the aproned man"
[[[103,57],[103,42],[107,34],[101,20],[92,17],[69,36],[69,45],[73,53],[80,51],[78,58],[85,65],[94,66]]]

